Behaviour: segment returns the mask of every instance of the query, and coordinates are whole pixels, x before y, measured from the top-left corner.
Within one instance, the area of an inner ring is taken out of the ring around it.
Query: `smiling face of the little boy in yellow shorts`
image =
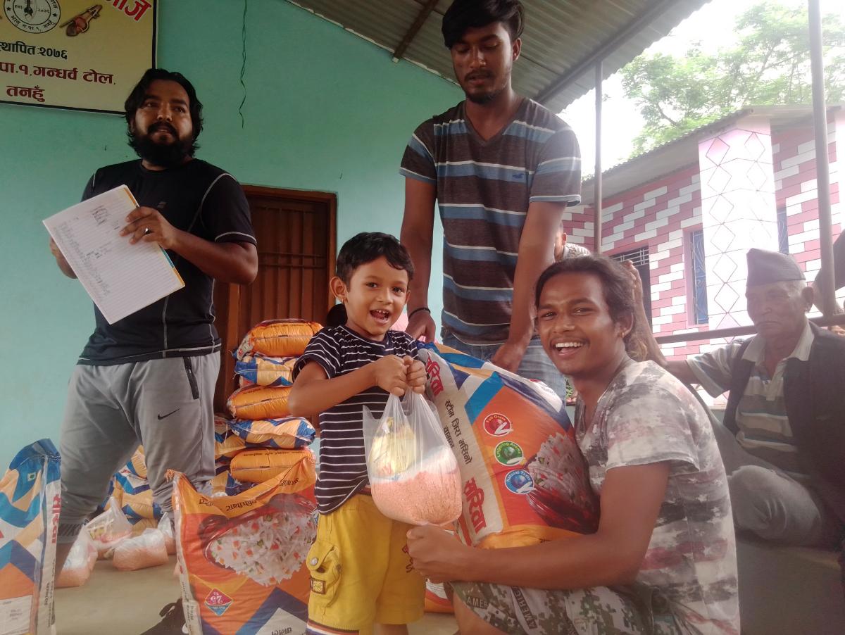
[[[376,341],[384,339],[408,301],[408,272],[394,269],[384,256],[355,269],[348,285],[336,277],[331,285],[346,306],[346,326]]]

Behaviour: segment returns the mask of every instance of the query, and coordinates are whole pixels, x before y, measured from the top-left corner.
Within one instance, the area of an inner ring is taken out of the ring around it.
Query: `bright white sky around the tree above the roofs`
[[[693,41],[700,41],[705,51],[715,52],[733,41],[733,32],[725,25],[733,25],[736,17],[760,0],[711,0],[710,3],[685,19],[662,40],[655,42],[647,53],[683,55]],[[782,0],[785,4],[803,4],[804,0]],[[839,14],[845,20],[845,0],[820,0],[823,14]],[[607,170],[623,162],[630,155],[633,139],[642,129],[642,119],[633,101],[624,97],[619,73],[604,80],[605,100],[602,104],[602,169]],[[578,135],[581,144],[583,173],[592,174],[596,161],[595,91],[591,90],[575,100],[560,113]]]

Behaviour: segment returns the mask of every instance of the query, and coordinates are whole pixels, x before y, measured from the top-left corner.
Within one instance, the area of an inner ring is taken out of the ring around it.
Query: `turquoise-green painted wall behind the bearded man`
[[[282,0],[251,0],[242,129],[243,5],[161,5],[159,65],[185,73],[204,102],[200,158],[243,183],[336,193],[339,245],[357,231],[398,235],[402,152],[419,122],[461,99],[454,84]],[[76,203],[97,167],[134,158],[125,129],[116,116],[0,104],[0,470],[25,443],[58,442],[68,377],[93,328],[88,296],[59,273],[41,219]]]

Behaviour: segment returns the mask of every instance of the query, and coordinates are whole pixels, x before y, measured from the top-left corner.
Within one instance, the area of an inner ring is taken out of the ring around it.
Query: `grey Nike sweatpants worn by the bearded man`
[[[62,424],[58,541],[73,542],[109,480],[144,445],[153,499],[172,510],[168,469],[198,489],[214,477],[214,389],[220,353],[76,366]]]

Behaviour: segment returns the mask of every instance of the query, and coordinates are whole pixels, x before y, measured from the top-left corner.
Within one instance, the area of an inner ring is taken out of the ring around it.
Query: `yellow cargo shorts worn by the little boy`
[[[308,632],[369,632],[373,624],[423,617],[425,578],[413,568],[411,525],[386,518],[373,497],[358,494],[319,517],[308,551]]]

